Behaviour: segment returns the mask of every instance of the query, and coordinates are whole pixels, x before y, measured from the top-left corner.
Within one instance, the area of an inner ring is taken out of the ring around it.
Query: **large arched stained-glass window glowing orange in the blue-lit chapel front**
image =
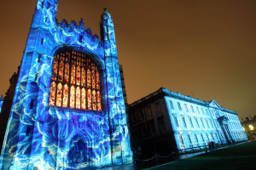
[[[100,72],[86,54],[62,50],[55,55],[49,105],[102,111]]]

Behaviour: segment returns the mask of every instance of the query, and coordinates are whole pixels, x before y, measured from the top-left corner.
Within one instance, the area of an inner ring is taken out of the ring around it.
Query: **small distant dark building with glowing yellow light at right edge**
[[[256,115],[246,117],[245,120],[241,119],[241,125],[247,133],[248,139],[256,139]]]

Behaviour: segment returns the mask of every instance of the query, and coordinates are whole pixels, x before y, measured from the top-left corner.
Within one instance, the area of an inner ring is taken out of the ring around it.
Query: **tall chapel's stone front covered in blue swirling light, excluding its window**
[[[113,21],[102,14],[102,40],[55,19],[57,0],[38,0],[0,159],[2,169],[78,169],[132,161]],[[101,67],[102,111],[49,105],[55,52],[88,54]]]

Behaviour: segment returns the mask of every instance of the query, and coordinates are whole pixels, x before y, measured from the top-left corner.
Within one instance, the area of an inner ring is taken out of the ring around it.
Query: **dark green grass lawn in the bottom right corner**
[[[256,141],[237,144],[180,161],[172,161],[148,170],[165,169],[253,169],[256,170]]]

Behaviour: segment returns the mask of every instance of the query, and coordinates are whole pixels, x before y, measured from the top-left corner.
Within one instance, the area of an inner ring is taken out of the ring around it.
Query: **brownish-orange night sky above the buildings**
[[[17,71],[36,0],[0,6],[0,94]],[[112,15],[128,103],[159,88],[212,100],[256,115],[256,1],[59,0],[57,19],[100,35],[103,8]],[[193,94],[192,94],[193,93]]]

